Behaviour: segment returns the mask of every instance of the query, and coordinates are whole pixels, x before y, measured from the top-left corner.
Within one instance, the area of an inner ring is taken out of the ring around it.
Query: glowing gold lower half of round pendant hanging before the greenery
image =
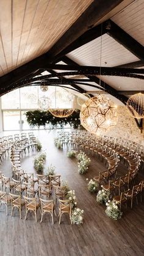
[[[49,112],[57,118],[67,118],[73,111],[73,108],[49,108]]]

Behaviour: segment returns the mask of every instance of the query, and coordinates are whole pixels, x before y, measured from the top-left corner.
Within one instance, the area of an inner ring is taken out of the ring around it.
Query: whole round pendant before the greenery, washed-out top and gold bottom
[[[67,118],[70,116],[74,108],[73,106],[73,94],[68,91],[56,91],[51,95],[52,99],[55,99],[54,108],[49,108],[49,112],[57,118]],[[70,106],[69,108],[67,106]]]

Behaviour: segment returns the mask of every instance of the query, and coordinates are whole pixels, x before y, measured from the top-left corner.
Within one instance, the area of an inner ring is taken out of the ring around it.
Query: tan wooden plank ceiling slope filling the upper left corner
[[[0,76],[46,53],[93,0],[1,0]]]

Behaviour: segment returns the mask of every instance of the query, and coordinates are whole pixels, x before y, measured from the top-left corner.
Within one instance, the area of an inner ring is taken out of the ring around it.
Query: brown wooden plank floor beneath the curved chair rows
[[[9,133],[10,134],[10,133]],[[58,217],[54,217],[54,225],[51,217],[45,216],[40,224],[34,215],[29,213],[27,220],[20,220],[17,211],[15,216],[5,214],[5,207],[0,208],[0,256],[142,256],[144,255],[144,203],[139,203],[131,208],[123,209],[123,217],[120,220],[112,220],[106,216],[105,206],[96,203],[96,195],[87,190],[86,178],[93,178],[98,171],[104,170],[104,165],[92,158],[89,171],[86,175],[77,172],[77,160],[67,157],[66,149],[59,150],[54,146],[53,138],[56,131],[35,132],[43,143],[43,149],[47,152],[46,165],[55,165],[57,174],[67,180],[71,189],[76,190],[78,206],[84,209],[84,224],[71,225],[68,216],[62,216],[59,225]],[[22,160],[24,170],[33,172],[34,157],[37,152],[31,152]],[[5,175],[12,175],[10,162],[7,157],[0,166]],[[126,168],[120,165],[118,175],[126,173]],[[144,178],[141,171],[138,179]],[[144,194],[143,194],[144,201]]]

